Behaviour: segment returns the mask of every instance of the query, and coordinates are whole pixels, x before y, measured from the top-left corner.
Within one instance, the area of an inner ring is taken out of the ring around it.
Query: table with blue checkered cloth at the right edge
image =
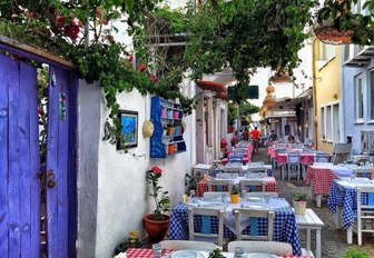
[[[360,186],[374,186],[368,178],[335,179],[332,182],[327,205],[334,214],[338,228],[347,230],[347,244],[352,244],[353,224],[357,212],[356,188]],[[362,204],[367,205],[367,194],[362,195]]]

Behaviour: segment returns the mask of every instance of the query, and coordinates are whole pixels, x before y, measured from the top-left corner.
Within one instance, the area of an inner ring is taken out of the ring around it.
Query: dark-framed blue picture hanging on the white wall
[[[117,141],[117,149],[138,146],[138,112],[119,110],[118,118],[122,125],[121,137]]]

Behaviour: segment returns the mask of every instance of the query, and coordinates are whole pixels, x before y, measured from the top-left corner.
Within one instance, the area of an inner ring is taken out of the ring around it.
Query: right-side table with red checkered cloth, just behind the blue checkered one
[[[321,198],[328,195],[334,179],[351,177],[352,169],[333,163],[308,166],[304,181],[311,185],[312,196],[316,197],[317,207],[321,207]]]

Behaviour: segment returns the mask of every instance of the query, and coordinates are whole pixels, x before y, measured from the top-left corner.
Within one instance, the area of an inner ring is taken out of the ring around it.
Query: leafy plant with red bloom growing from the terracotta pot
[[[163,191],[163,187],[158,185],[159,178],[163,176],[163,170],[159,167],[152,167],[147,171],[147,181],[150,185],[149,196],[154,198],[156,209],[152,214],[152,219],[164,220],[166,212],[170,210],[170,198],[168,191]]]

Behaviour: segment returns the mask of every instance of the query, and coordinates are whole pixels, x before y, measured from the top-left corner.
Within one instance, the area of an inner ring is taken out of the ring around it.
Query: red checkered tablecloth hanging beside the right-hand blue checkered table
[[[312,185],[314,195],[328,195],[332,182],[336,178],[338,177],[328,168],[309,166],[304,181]]]

